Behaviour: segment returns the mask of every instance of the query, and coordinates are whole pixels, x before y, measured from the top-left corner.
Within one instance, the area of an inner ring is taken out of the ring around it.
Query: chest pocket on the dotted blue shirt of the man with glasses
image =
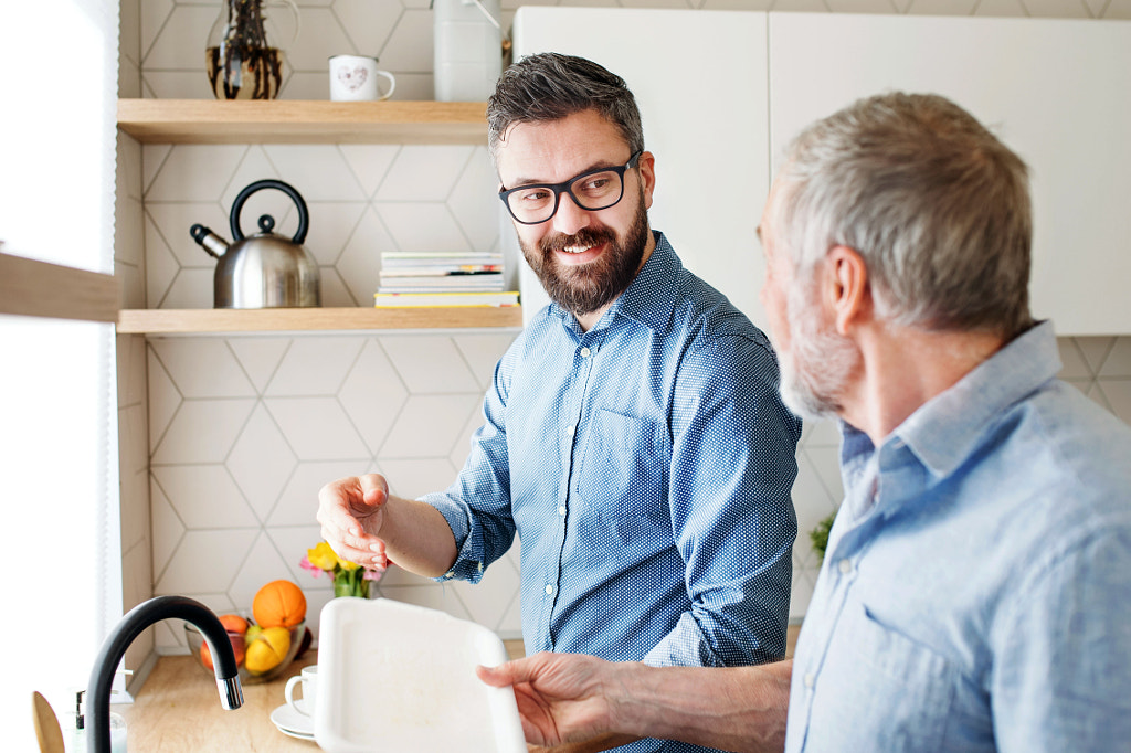
[[[666,517],[671,457],[663,424],[597,410],[571,482],[573,492],[606,518]]]

